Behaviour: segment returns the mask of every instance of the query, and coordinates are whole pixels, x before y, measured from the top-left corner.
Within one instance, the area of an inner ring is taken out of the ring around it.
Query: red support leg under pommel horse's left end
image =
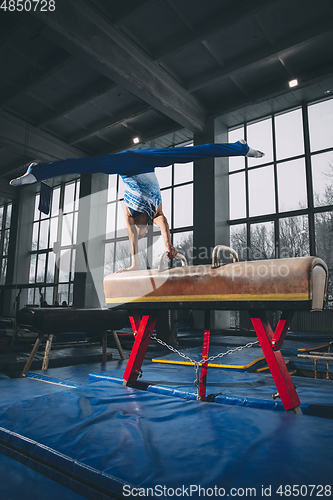
[[[126,365],[123,385],[127,385],[128,382],[133,382],[138,378],[156,320],[157,314],[150,317],[142,316],[141,320],[138,314],[130,316],[135,341]]]

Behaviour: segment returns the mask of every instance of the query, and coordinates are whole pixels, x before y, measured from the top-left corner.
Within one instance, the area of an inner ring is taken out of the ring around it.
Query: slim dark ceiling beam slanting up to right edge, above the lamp
[[[267,62],[270,59],[275,59],[283,56],[286,52],[301,47],[308,41],[315,38],[319,38],[327,35],[333,30],[333,24],[331,21],[326,21],[324,23],[319,23],[314,26],[310,26],[306,30],[301,30],[300,32],[293,34],[292,36],[283,39],[281,42],[276,44],[274,47],[269,46],[264,49],[260,49],[257,52],[251,53],[245,57],[241,57],[236,61],[228,64],[224,68],[219,68],[213,71],[205,72],[196,78],[193,78],[186,84],[186,88],[189,92],[194,92],[202,87],[205,87],[212,82],[222,80],[224,78],[229,78],[235,75],[239,71],[258,65],[262,62]]]

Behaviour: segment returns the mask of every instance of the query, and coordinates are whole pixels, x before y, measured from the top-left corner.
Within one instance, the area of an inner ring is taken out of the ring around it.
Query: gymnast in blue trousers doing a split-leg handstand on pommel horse
[[[168,258],[173,259],[177,255],[177,250],[171,243],[168,221],[162,211],[162,197],[155,168],[226,156],[261,158],[264,153],[250,148],[244,140],[188,147],[137,148],[121,153],[68,158],[44,164],[33,162],[24,175],[11,180],[10,184],[21,186],[68,174],[119,174],[125,183],[124,216],[129,236],[131,265],[118,272],[135,271],[139,269],[138,241],[146,234],[150,222],[161,230]]]

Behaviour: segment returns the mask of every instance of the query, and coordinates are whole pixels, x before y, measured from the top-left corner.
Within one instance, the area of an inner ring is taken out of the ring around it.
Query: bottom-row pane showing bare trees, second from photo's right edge
[[[309,222],[307,215],[279,221],[280,257],[309,255]]]

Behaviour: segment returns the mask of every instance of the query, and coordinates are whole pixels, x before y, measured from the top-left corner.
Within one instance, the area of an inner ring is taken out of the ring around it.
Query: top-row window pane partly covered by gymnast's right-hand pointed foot
[[[272,140],[272,120],[263,120],[253,123],[247,127],[247,143],[253,149],[259,149],[265,153],[264,159],[249,158],[249,166],[258,163],[268,163],[273,161],[273,140]]]

